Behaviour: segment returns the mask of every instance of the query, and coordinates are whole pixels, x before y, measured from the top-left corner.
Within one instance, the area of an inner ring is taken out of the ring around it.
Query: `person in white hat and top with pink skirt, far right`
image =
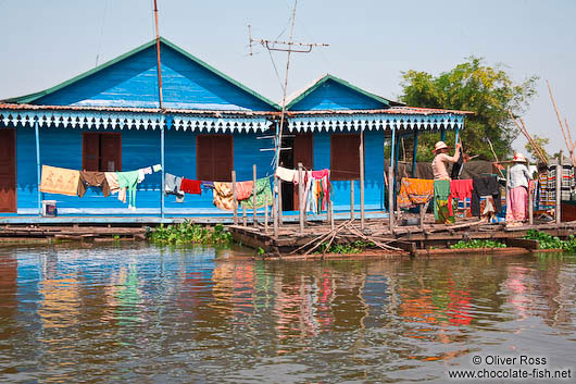
[[[508,182],[506,225],[517,226],[526,220],[528,212],[528,184],[531,179],[524,154],[516,152],[512,159]]]

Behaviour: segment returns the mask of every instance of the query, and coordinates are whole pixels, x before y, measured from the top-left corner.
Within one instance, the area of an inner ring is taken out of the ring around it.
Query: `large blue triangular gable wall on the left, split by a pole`
[[[270,104],[161,45],[164,108],[200,110],[274,110]],[[46,106],[96,106],[158,108],[155,47],[74,82],[34,103]]]

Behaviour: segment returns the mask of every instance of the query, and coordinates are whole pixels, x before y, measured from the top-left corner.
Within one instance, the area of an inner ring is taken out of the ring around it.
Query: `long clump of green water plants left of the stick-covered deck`
[[[153,244],[210,244],[230,245],[231,234],[224,225],[216,224],[209,228],[202,225],[185,221],[179,224],[160,224],[147,235],[148,240]]]

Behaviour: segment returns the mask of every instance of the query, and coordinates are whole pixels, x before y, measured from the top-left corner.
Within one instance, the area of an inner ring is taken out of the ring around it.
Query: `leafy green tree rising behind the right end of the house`
[[[401,100],[410,107],[426,107],[471,111],[460,137],[468,154],[493,160],[487,138],[499,159],[512,154],[511,145],[518,132],[508,114],[522,114],[536,95],[537,76],[515,84],[502,65],[488,66],[484,59],[471,57],[450,72],[433,76],[426,72],[408,71],[402,74]],[[439,134],[418,137],[417,160],[433,159],[431,149]],[[454,143],[454,134],[447,132],[447,141]]]

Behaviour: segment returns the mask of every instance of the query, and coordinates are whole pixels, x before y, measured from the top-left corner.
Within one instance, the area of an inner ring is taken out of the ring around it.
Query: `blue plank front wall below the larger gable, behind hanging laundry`
[[[90,131],[95,132],[95,131]],[[82,169],[82,129],[40,129],[41,163],[67,169]],[[234,166],[238,181],[252,179],[252,164],[258,177],[272,174],[273,152],[261,152],[263,145],[255,134],[234,135]],[[17,210],[18,214],[37,214],[38,189],[34,129],[16,129]],[[133,171],[160,163],[159,131],[122,131],[122,170]],[[196,179],[196,133],[167,131],[165,134],[165,171]],[[160,173],[148,175],[138,185],[136,211],[117,200],[115,195],[103,197],[98,188],[89,188],[80,197],[42,194],[45,200],[57,200],[59,214],[159,214]],[[174,196],[165,197],[167,214],[227,214],[212,203],[212,190],[202,195],[186,195],[183,203]]]

